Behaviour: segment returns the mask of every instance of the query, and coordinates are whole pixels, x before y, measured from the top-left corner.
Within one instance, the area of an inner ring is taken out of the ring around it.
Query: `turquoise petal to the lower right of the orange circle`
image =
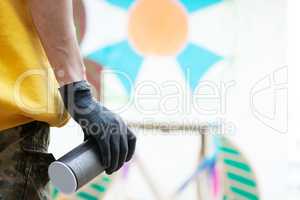
[[[222,59],[222,56],[192,43],[177,56],[177,61],[193,91],[203,75]]]

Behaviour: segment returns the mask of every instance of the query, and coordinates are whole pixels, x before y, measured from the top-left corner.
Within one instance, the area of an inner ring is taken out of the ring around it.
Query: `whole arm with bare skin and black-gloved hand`
[[[98,144],[99,159],[111,174],[129,161],[136,138],[124,121],[91,94],[76,40],[72,0],[27,0],[33,22],[53,67],[66,109],[85,138]]]

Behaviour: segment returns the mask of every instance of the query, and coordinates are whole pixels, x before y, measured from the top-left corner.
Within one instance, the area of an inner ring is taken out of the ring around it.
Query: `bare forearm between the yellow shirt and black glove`
[[[48,60],[60,86],[85,79],[72,0],[28,0]]]

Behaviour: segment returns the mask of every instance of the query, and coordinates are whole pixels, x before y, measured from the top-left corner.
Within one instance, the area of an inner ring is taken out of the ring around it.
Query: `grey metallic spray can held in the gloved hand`
[[[52,184],[65,194],[76,192],[105,170],[99,155],[97,144],[85,141],[50,164],[48,174]]]

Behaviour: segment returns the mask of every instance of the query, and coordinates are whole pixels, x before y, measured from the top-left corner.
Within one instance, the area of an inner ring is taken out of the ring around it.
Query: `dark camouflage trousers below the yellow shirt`
[[[49,125],[31,122],[0,131],[0,200],[50,199]]]

